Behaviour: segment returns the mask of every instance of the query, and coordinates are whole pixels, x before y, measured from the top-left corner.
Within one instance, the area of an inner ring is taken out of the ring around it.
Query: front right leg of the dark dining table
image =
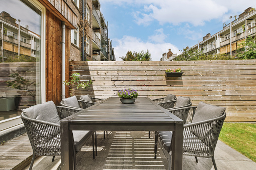
[[[172,137],[172,170],[182,169],[183,159],[183,123],[176,123]],[[170,169],[170,167],[169,167]]]

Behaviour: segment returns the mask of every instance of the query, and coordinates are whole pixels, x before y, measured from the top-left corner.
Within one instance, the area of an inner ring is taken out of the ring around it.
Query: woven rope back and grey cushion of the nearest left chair
[[[23,109],[21,119],[37,155],[60,155],[60,118],[52,101]]]

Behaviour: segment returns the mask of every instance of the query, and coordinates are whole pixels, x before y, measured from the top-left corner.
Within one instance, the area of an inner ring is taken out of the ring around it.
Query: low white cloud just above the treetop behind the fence
[[[153,42],[144,42],[137,37],[123,36],[122,39],[113,39],[114,53],[117,61],[122,61],[119,57],[125,56],[126,52],[135,51],[140,52],[141,50],[149,50],[151,54],[152,61],[160,61],[160,58],[163,53],[166,53],[168,49],[172,49],[172,52],[178,53],[179,49],[170,43],[153,43]]]

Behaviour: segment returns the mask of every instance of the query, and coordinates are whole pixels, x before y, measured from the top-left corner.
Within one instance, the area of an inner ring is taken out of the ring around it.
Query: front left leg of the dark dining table
[[[73,169],[73,134],[68,130],[68,122],[60,123],[61,170]]]

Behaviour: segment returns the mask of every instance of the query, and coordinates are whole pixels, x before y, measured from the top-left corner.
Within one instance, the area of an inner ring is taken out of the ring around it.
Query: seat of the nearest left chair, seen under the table
[[[90,136],[92,136],[93,133],[94,131],[73,130],[75,151],[81,150],[84,143],[86,143],[86,141],[89,139]]]

